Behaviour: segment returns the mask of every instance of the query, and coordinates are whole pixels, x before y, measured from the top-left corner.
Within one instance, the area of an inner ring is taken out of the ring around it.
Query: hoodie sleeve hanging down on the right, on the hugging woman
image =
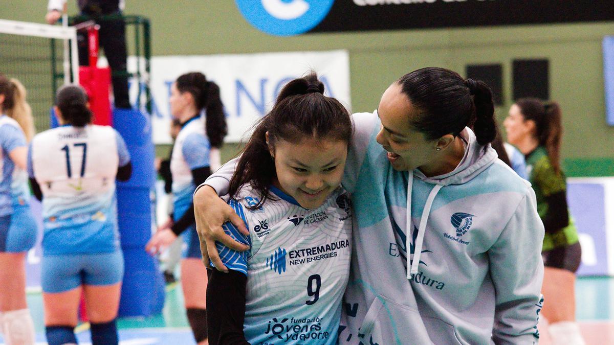
[[[542,242],[544,228],[537,214],[535,192],[523,200],[489,250],[495,286],[495,344],[537,343],[538,314],[542,309]]]

